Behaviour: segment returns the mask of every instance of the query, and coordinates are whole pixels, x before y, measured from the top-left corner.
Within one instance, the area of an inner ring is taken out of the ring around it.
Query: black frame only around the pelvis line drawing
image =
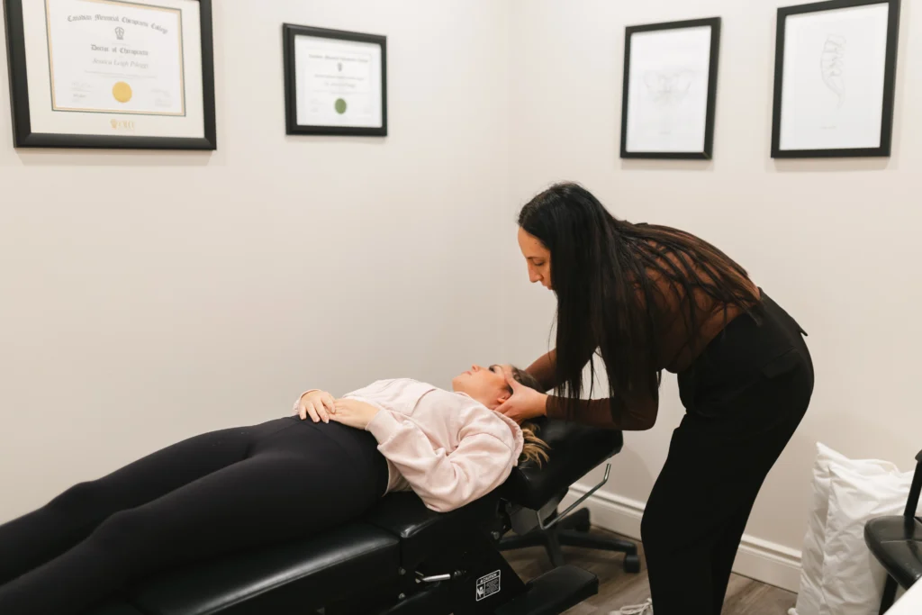
[[[704,144],[698,152],[629,151],[628,150],[628,99],[631,84],[631,37],[638,32],[680,30],[685,28],[711,28],[711,57],[708,63],[707,108],[704,118]],[[714,156],[714,125],[717,104],[717,66],[720,61],[721,18],[686,19],[663,23],[629,26],[624,30],[624,74],[621,96],[621,158],[659,160],[711,160]]]

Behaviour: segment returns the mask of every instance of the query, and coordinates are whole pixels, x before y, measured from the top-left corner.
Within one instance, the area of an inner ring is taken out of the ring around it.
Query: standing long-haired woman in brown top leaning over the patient
[[[810,404],[806,334],[713,245],[615,219],[579,185],[550,187],[518,224],[529,278],[557,296],[556,348],[527,371],[555,390],[509,378],[498,410],[647,430],[662,371],[677,373],[686,413],[641,526],[653,607],[719,615],[762,481]],[[595,354],[608,396],[583,399]]]

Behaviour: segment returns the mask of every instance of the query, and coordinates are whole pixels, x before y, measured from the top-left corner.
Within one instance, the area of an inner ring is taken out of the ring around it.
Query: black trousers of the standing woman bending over
[[[800,326],[762,293],[679,374],[687,412],[644,511],[656,615],[719,615],[739,541],[813,392]]]

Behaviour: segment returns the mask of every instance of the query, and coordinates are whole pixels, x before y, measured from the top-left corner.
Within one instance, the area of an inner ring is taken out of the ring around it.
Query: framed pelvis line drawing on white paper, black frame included
[[[719,50],[720,18],[625,30],[621,158],[711,159]]]

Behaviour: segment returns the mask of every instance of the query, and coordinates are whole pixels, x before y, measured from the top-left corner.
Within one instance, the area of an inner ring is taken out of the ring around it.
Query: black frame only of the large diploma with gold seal
[[[204,133],[200,138],[174,136],[101,136],[38,133],[32,130],[26,37],[22,4],[31,0],[4,0],[6,53],[13,111],[13,145],[16,148],[203,149],[218,148],[215,119],[215,66],[211,0],[199,3],[202,41],[202,97]]]

